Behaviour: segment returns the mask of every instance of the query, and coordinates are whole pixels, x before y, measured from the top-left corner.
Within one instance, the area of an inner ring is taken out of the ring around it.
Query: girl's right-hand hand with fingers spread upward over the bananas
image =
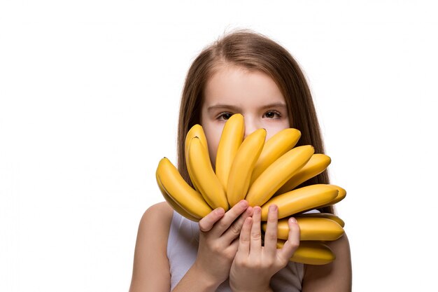
[[[253,217],[246,218],[239,239],[239,249],[229,273],[229,285],[234,292],[271,291],[271,277],[288,264],[299,246],[299,226],[289,219],[289,237],[282,249],[277,249],[278,207],[269,206],[267,230],[262,246],[261,208],[253,208]]]

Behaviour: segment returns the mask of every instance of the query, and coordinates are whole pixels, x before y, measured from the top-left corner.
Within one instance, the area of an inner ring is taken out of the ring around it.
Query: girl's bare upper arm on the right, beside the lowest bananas
[[[302,292],[351,291],[351,253],[347,235],[326,244],[336,260],[327,265],[305,265]]]

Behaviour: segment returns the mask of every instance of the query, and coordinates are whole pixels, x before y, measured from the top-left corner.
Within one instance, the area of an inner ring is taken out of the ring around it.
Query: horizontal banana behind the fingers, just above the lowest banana
[[[289,225],[288,218],[278,221],[277,237],[278,239],[288,239]],[[327,218],[296,217],[299,225],[299,240],[336,240],[344,234],[336,221]],[[267,223],[262,223],[262,229],[266,231]]]

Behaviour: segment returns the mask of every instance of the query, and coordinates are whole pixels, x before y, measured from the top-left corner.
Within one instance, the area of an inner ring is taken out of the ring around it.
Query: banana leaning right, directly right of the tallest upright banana
[[[234,157],[227,182],[227,199],[229,206],[234,206],[246,196],[251,174],[257,159],[262,153],[266,130],[258,129],[243,140]]]

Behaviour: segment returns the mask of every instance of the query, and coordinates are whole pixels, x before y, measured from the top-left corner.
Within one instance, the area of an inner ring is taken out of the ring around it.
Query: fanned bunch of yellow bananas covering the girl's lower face
[[[344,221],[334,214],[306,213],[336,204],[346,190],[332,184],[313,184],[297,188],[330,165],[327,155],[314,153],[311,145],[297,146],[301,132],[285,129],[266,139],[259,129],[243,139],[245,125],[241,114],[234,114],[222,130],[213,169],[209,148],[200,125],[185,137],[185,162],[192,188],[167,158],[157,167],[157,184],[164,199],[182,216],[199,221],[213,209],[227,211],[240,200],[262,208],[267,221],[270,204],[278,206],[278,242],[288,239],[288,218],[294,216],[300,228],[300,245],[290,260],[323,265],[334,260],[325,244],[344,234]],[[262,223],[266,230],[267,223]]]

